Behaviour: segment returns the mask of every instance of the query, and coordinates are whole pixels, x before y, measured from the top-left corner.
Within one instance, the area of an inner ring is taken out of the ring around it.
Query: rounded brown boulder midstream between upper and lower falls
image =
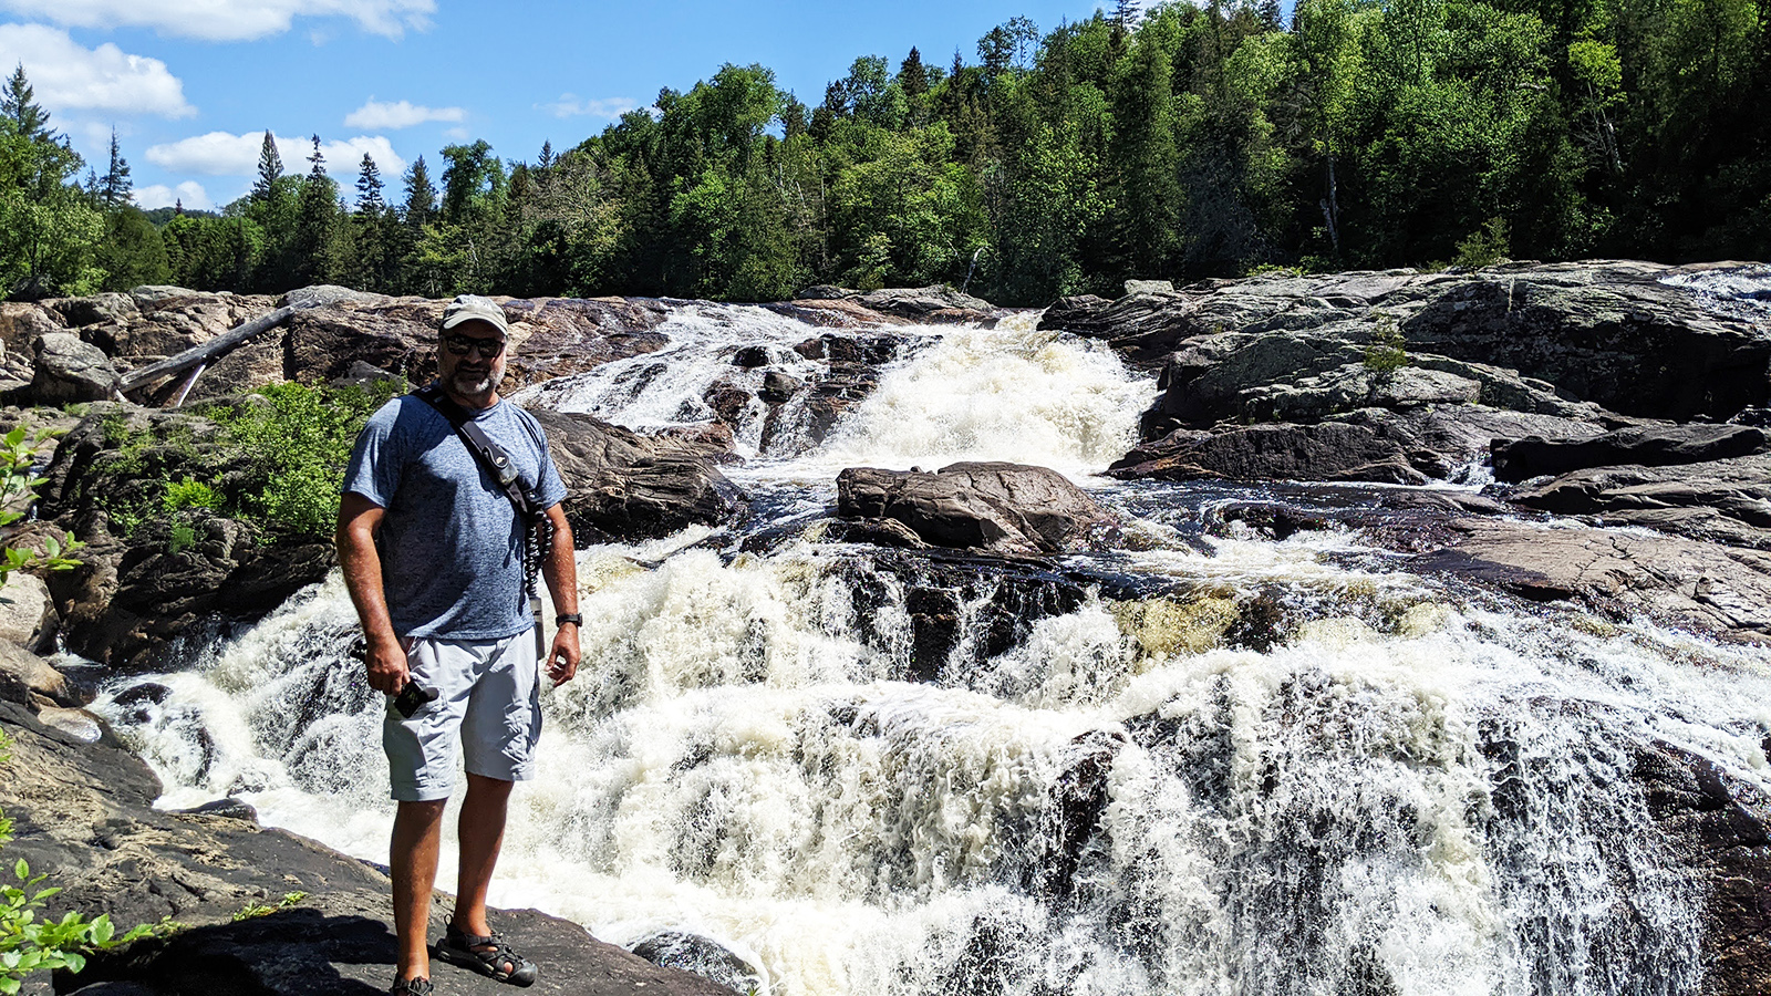
[[[937,473],[848,468],[836,479],[836,512],[896,519],[932,546],[997,553],[1059,553],[1114,528],[1064,475],[1009,463],[956,463]]]

